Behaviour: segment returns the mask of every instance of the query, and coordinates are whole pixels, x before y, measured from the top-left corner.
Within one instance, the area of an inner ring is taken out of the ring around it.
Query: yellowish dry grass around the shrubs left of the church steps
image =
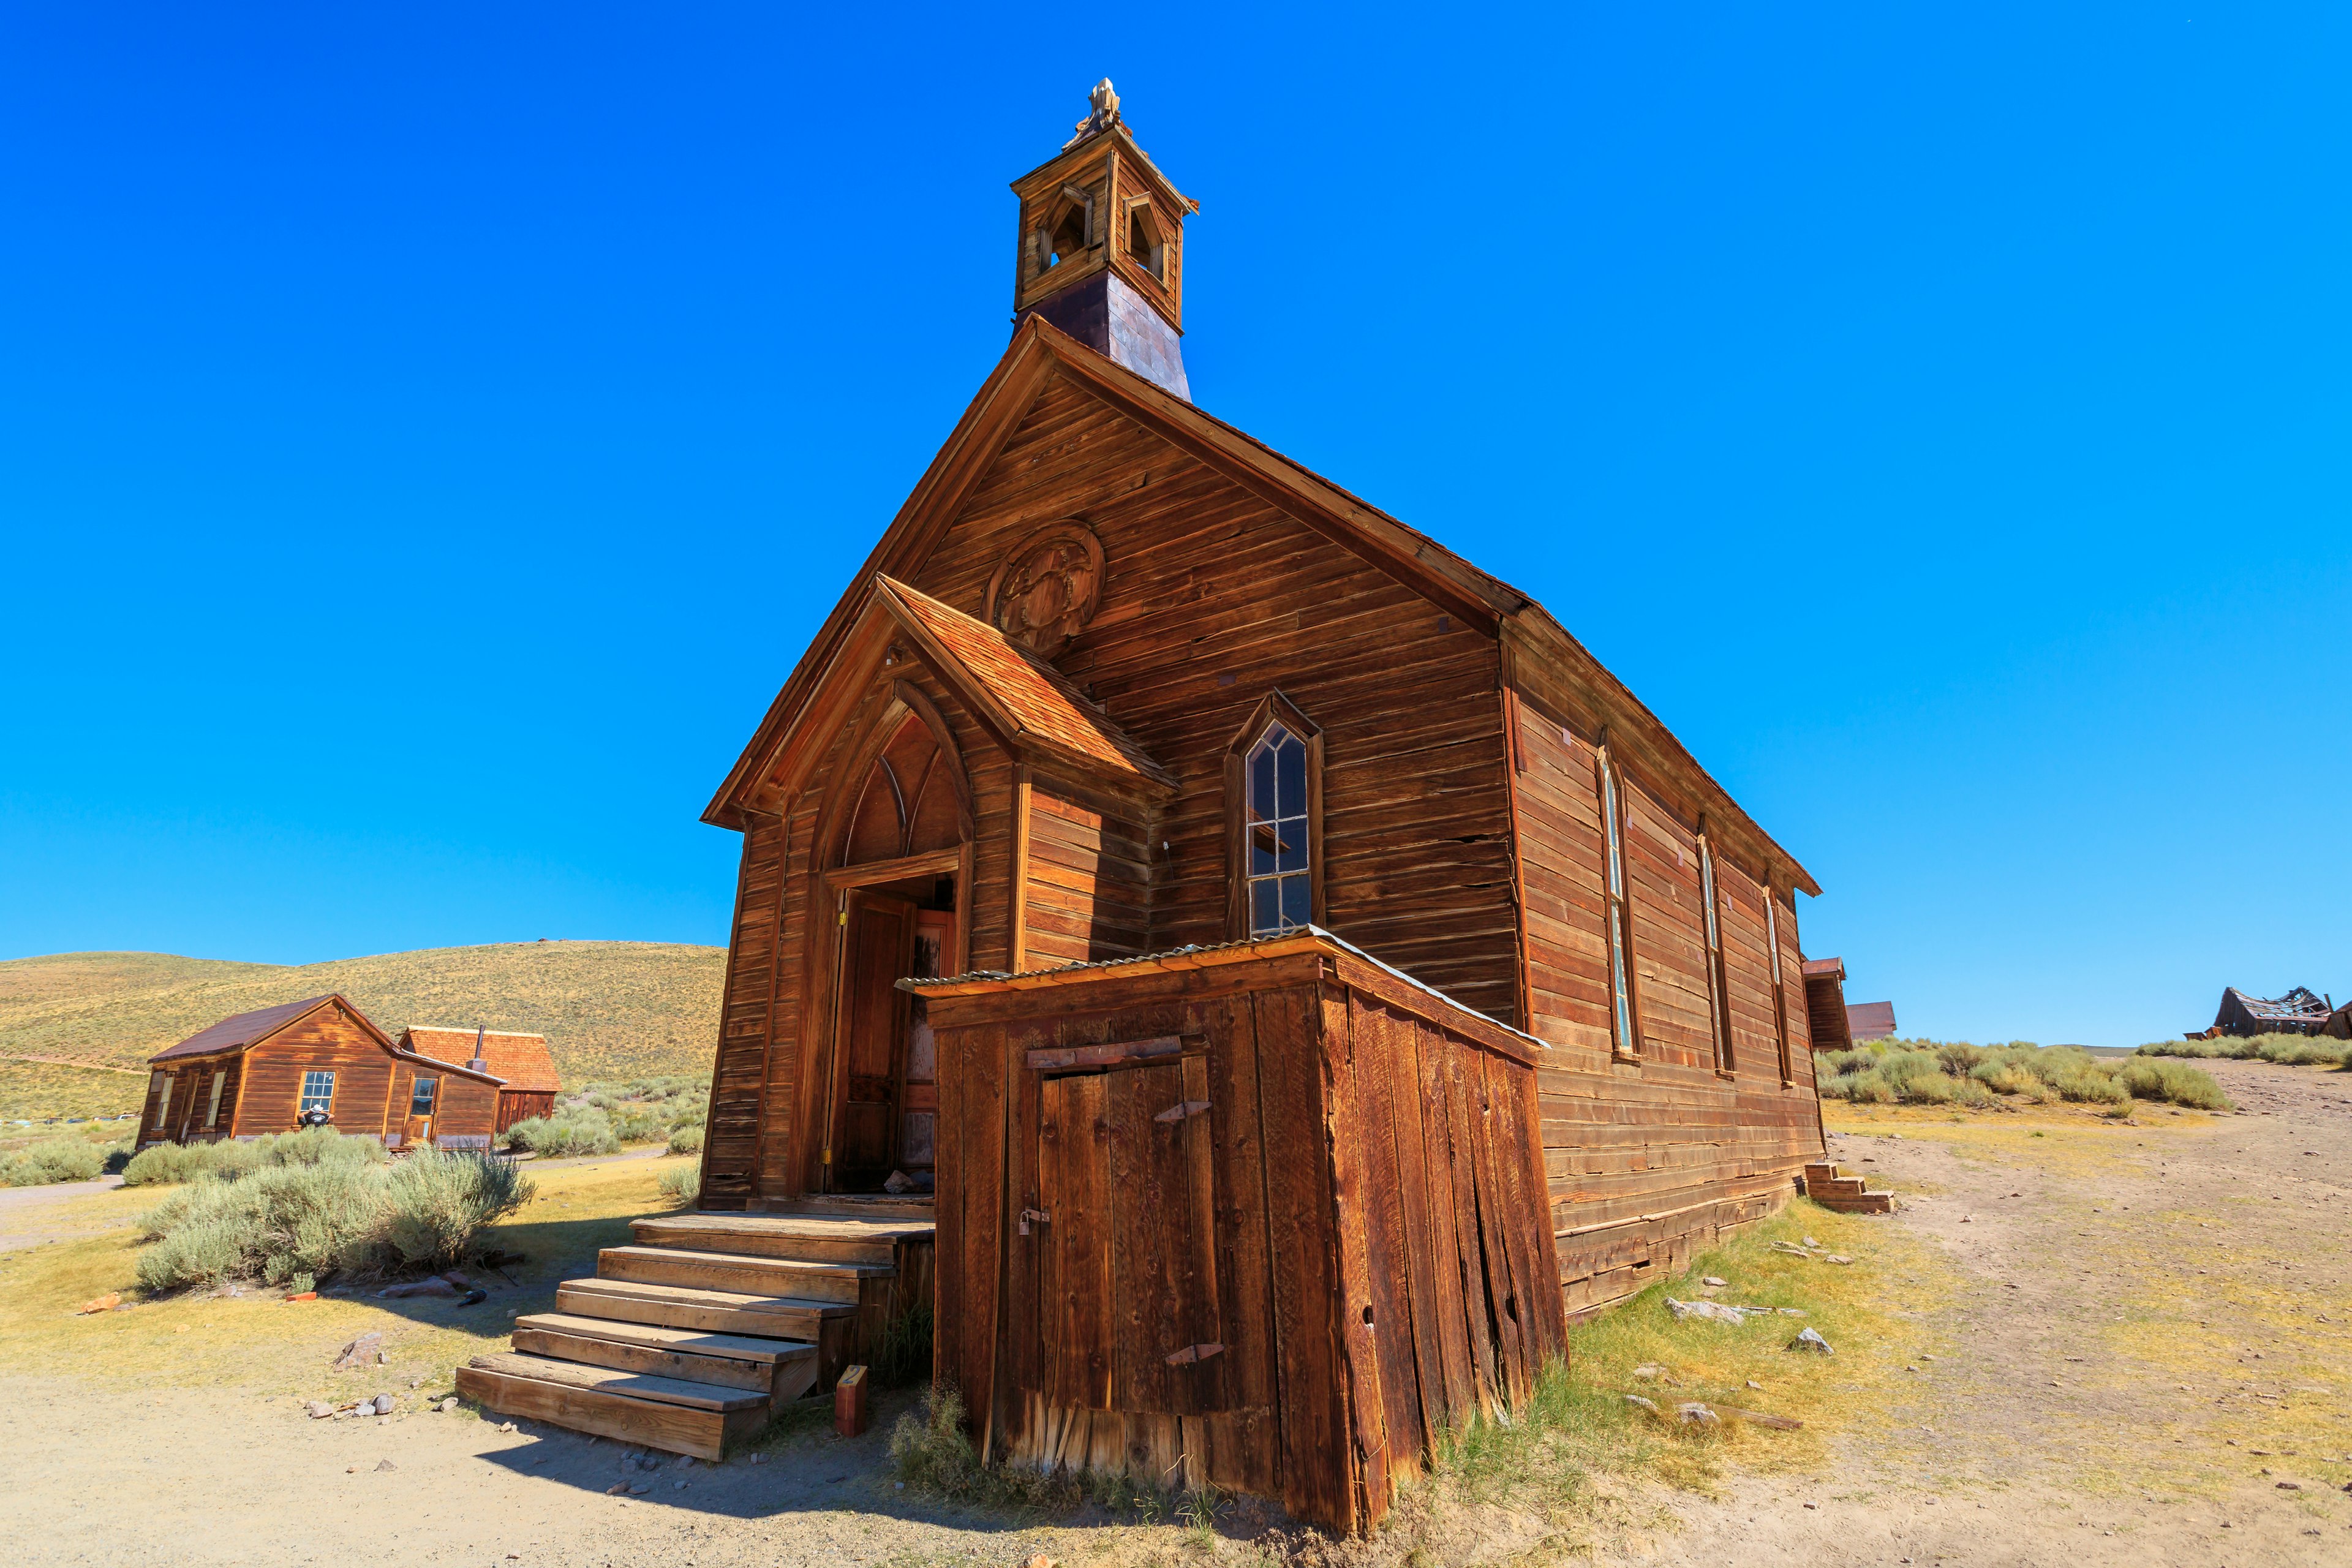
[[[661,1213],[663,1171],[675,1159],[630,1159],[595,1168],[534,1166],[539,1197],[517,1215],[482,1232],[482,1246],[522,1253],[508,1288],[499,1276],[480,1307],[452,1300],[379,1300],[329,1295],[282,1302],[275,1291],[242,1295],[188,1293],[141,1300],[136,1291],[136,1218],[153,1192],[118,1190],[71,1199],[64,1211],[5,1215],[0,1234],[78,1232],[47,1246],[0,1253],[0,1366],[31,1375],[68,1371],[101,1387],[247,1389],[292,1399],[358,1399],[390,1389],[419,1396],[449,1392],[452,1373],[470,1356],[506,1349],[508,1319],[548,1312],[562,1279],[595,1272],[600,1246],[630,1239],[628,1220]],[[75,1307],[122,1291],[129,1312],[75,1316]],[[383,1333],[390,1366],[376,1373],[332,1373],[334,1354],[362,1333]]]

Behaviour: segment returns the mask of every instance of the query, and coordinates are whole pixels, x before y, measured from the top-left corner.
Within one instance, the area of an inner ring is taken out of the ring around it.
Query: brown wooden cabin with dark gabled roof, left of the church
[[[151,1056],[139,1147],[292,1133],[313,1107],[393,1150],[487,1150],[499,1079],[405,1051],[343,997],[306,997]]]

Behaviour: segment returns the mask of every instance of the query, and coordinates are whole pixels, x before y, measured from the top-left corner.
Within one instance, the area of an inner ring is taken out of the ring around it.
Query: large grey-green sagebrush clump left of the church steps
[[[151,1246],[139,1255],[139,1284],[174,1291],[259,1279],[301,1291],[329,1272],[442,1269],[532,1197],[529,1180],[485,1154],[419,1150],[397,1166],[301,1159],[313,1152],[242,1175],[200,1175],[141,1215]]]

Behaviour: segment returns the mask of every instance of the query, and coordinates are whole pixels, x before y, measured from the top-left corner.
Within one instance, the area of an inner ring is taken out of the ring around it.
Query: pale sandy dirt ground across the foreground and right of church
[[[2338,1490],[2352,1481],[2343,1232],[2352,1074],[2209,1067],[2249,1114],[2143,1107],[2136,1124],[2105,1124],[2056,1110],[1832,1112],[1835,1157],[1905,1194],[1903,1213],[1872,1225],[1903,1227],[1947,1265],[1947,1276],[1917,1281],[1922,1342],[1933,1352],[1919,1354],[1872,1425],[1842,1434],[1828,1465],[1731,1472],[1710,1495],[1661,1488],[1637,1533],[1595,1537],[1599,1559],[2352,1563],[2352,1497]],[[630,1164],[572,1180],[630,1180],[649,1192],[654,1175]],[[120,1232],[132,1201],[94,1192],[12,1206],[0,1215],[0,1293],[21,1288],[26,1260],[38,1260],[5,1251],[9,1237],[96,1248],[87,1237],[108,1225]],[[588,1199],[555,1178],[543,1206],[550,1225],[588,1225],[569,1218],[588,1213]],[[539,1288],[524,1281],[508,1309],[529,1309]],[[318,1307],[350,1321],[369,1309]],[[174,1345],[200,1356],[207,1324],[235,1309],[301,1312],[221,1302],[205,1307],[212,1319],[191,1319],[186,1340],[167,1338],[181,1333],[169,1307],[115,1314],[108,1342],[153,1340],[160,1349],[148,1354],[167,1359],[136,1385],[82,1375],[73,1356],[45,1349],[73,1342],[42,1338],[61,1328],[0,1335],[0,1450],[9,1455],[0,1540],[19,1561],[365,1554],[501,1568],[717,1568],[1018,1563],[1033,1552],[1063,1563],[1261,1556],[1235,1540],[1244,1530],[1211,1537],[1096,1516],[1021,1523],[913,1500],[887,1460],[898,1401],[884,1401],[875,1432],[849,1443],[804,1429],[771,1441],[760,1462],[663,1460],[659,1469],[626,1465],[609,1441],[529,1425],[506,1432],[470,1413],[313,1422],[285,1385],[256,1378],[245,1387],[233,1368],[207,1363],[209,1385],[188,1387],[193,1378],[169,1371]],[[334,1338],[341,1321],[320,1316],[303,1333]],[[428,1331],[459,1333],[419,1321]],[[496,1324],[466,1333],[494,1335]],[[447,1359],[456,1340],[419,1342]],[[386,1389],[412,1396],[402,1373],[386,1373]],[[626,1483],[647,1490],[612,1495]],[[1494,1526],[1425,1537],[1418,1561],[1505,1561],[1557,1540],[1501,1516]],[[1383,1556],[1378,1542],[1362,1552],[1364,1561]]]

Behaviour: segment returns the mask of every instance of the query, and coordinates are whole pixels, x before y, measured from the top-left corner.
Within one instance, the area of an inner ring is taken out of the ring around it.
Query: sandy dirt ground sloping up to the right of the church
[[[2352,1074],[2201,1065],[2249,1114],[1835,1133],[1919,1190],[1943,1349],[1837,1476],[1677,1500],[1621,1561],[2352,1563]]]

